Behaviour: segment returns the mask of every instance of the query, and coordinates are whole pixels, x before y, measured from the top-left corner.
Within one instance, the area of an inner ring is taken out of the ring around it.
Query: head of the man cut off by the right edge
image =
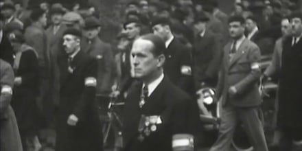
[[[301,12],[293,12],[290,16],[290,24],[292,25],[292,36],[301,36],[302,34],[302,14]]]

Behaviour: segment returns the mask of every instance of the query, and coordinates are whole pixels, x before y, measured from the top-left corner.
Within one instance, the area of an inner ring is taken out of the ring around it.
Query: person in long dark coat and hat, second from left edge
[[[14,49],[14,93],[12,108],[16,115],[23,150],[36,149],[38,135],[38,56],[34,48],[25,44],[23,34],[15,30],[9,35]]]

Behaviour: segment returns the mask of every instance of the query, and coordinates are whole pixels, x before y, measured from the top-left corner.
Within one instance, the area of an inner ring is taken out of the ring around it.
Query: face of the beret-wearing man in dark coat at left
[[[73,54],[80,46],[80,39],[71,34],[66,34],[63,36],[63,46],[67,54]]]

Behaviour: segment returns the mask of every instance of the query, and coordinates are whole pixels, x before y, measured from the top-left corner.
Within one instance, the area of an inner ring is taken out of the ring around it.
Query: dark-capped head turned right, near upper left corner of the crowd
[[[33,23],[38,23],[45,27],[47,25],[47,16],[45,10],[42,10],[41,8],[36,8],[32,10],[32,13],[30,14],[30,19],[32,19]]]

